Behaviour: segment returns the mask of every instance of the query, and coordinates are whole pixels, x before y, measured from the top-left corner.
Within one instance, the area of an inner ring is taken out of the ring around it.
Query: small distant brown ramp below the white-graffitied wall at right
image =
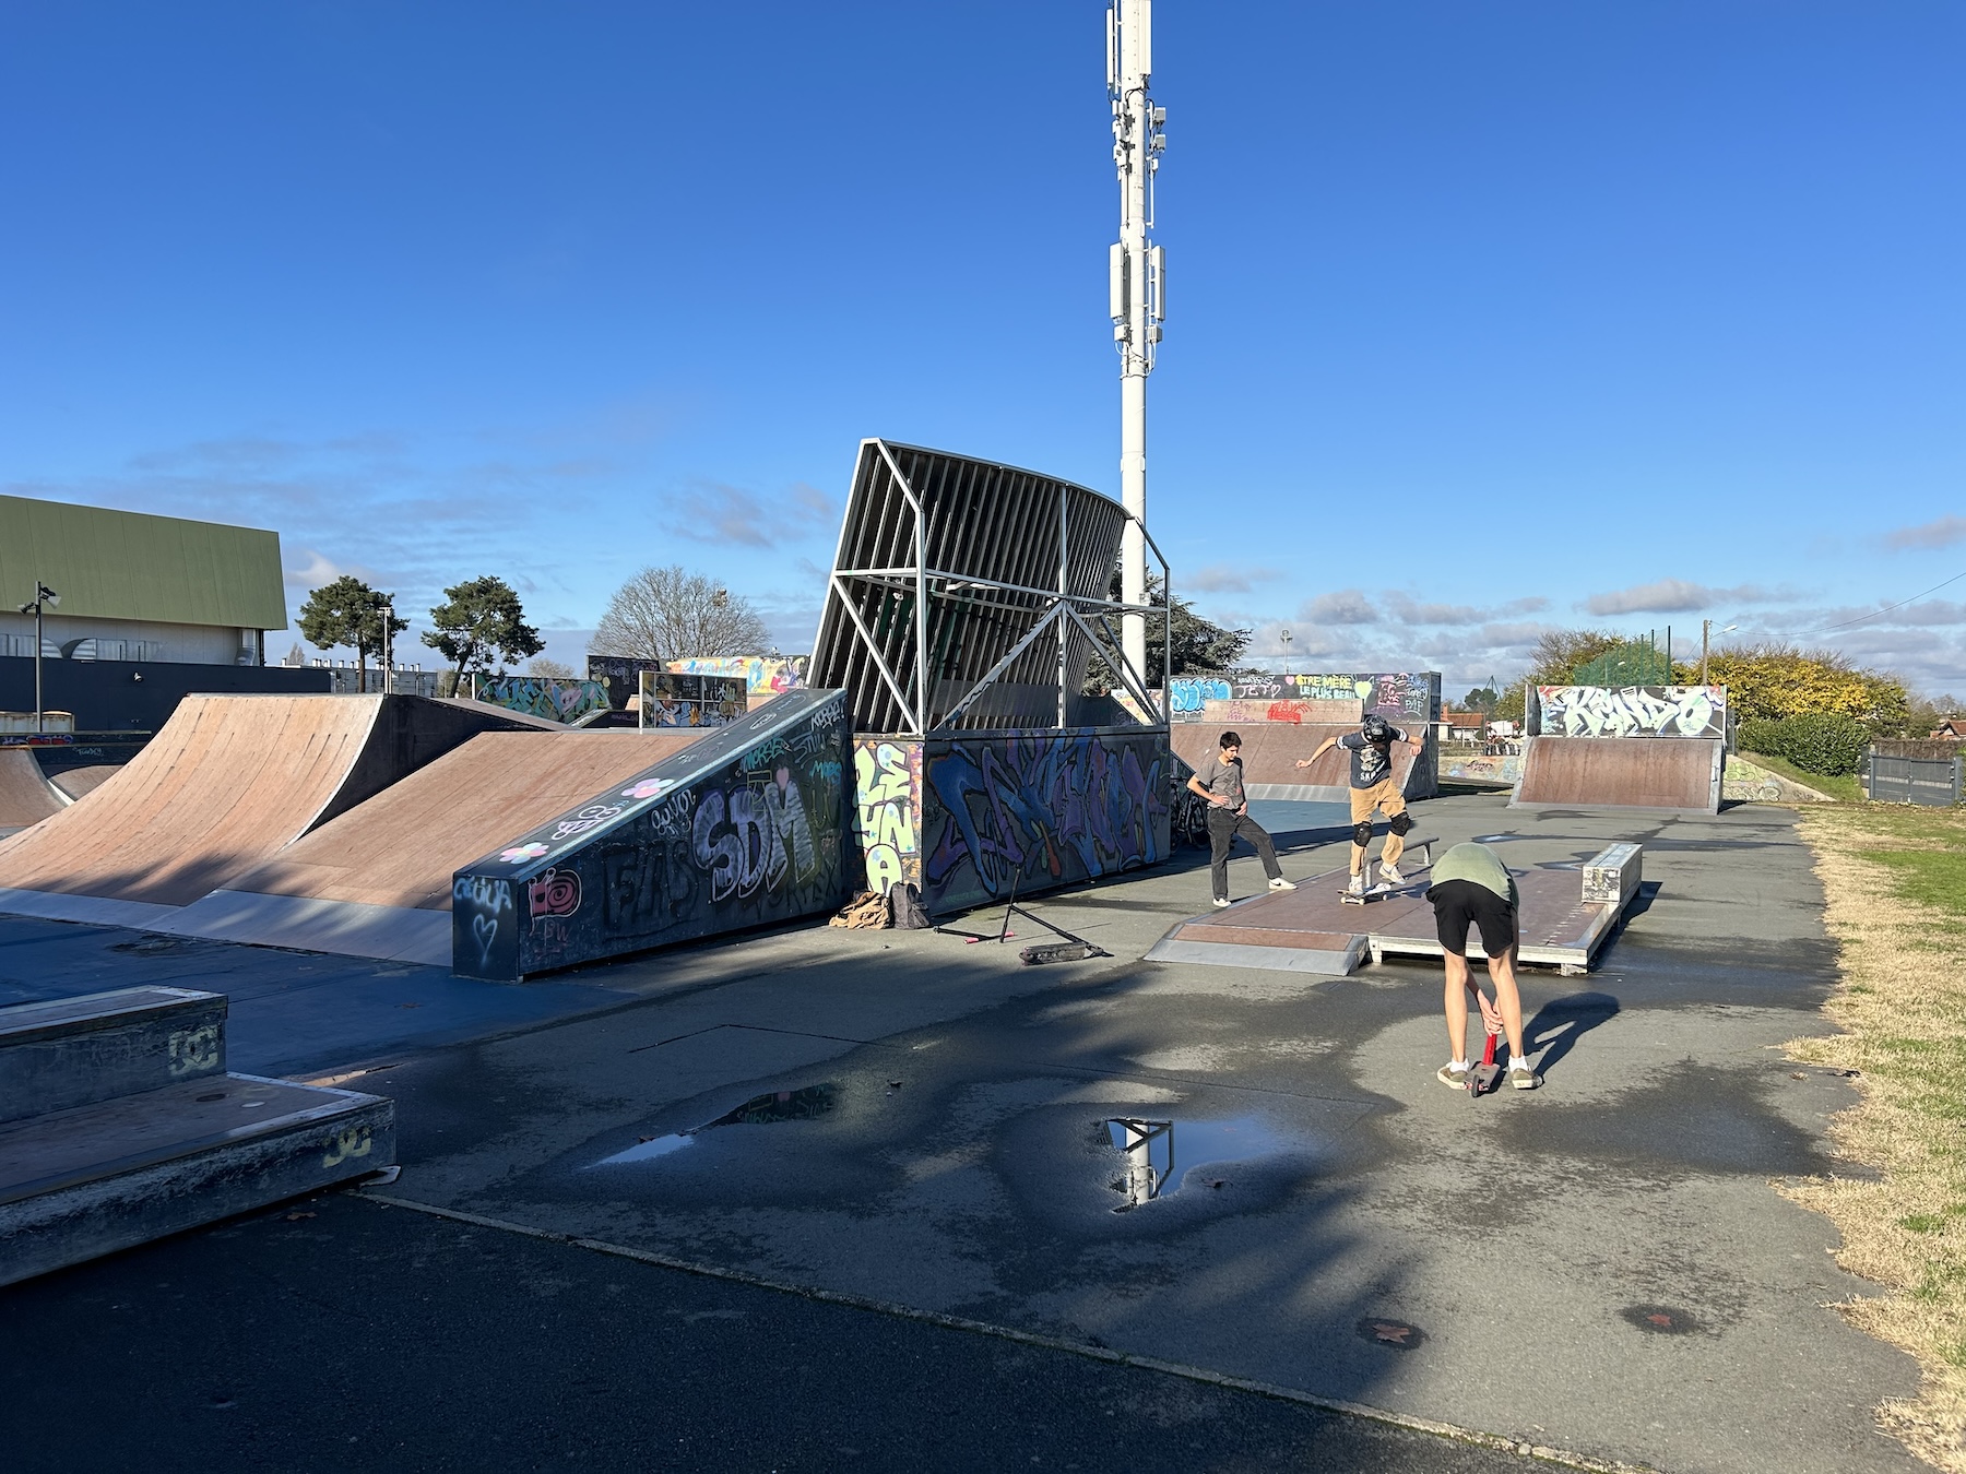
[[[1726,743],[1706,737],[1530,737],[1512,808],[1718,814]]]

